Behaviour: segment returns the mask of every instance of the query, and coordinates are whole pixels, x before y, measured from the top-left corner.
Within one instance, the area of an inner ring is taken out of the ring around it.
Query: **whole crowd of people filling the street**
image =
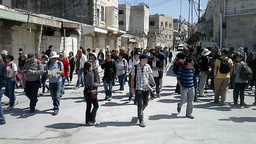
[[[112,87],[118,80],[120,93],[124,92],[124,85],[128,82],[130,91],[128,100],[132,101],[134,98],[134,104],[138,106],[140,126],[145,127],[143,110],[148,105],[148,101],[161,97],[163,73],[167,61],[172,63],[172,50],[172,48],[156,46],[150,50],[128,48],[125,52],[125,48],[121,47],[120,51],[106,48],[105,53],[99,50],[97,54],[95,50],[91,52],[90,48],[84,50],[80,47],[75,56],[73,52],[69,52],[69,56],[66,56],[65,51],[55,52],[52,45],[48,50],[36,54],[24,54],[20,48],[18,66],[14,62],[14,56],[2,50],[0,52],[0,98],[3,94],[7,96],[10,102],[6,111],[12,110],[18,104],[14,89],[20,82],[20,86],[24,88],[23,93],[30,100],[30,112],[35,112],[38,90],[42,86],[40,96],[50,92],[54,106],[52,115],[57,115],[60,98],[65,94],[65,81],[71,84],[76,70],[78,79],[74,89],[84,87],[86,124],[96,124],[95,117],[99,107],[97,89],[101,82],[104,87],[104,100],[111,101]],[[210,86],[215,92],[214,102],[218,103],[221,96],[221,105],[228,105],[226,93],[228,88],[234,87],[234,106],[238,107],[240,95],[240,108],[243,108],[246,105],[244,89],[246,87],[252,89],[256,80],[256,66],[254,66],[256,45],[252,52],[248,54],[247,51],[248,49],[242,47],[238,51],[233,47],[222,48],[220,51],[218,46],[211,49],[200,46],[195,49],[187,46],[183,52],[178,53],[173,64],[173,71],[178,81],[176,93],[181,94],[177,111],[180,113],[182,105],[187,102],[186,116],[194,118],[193,102],[201,103],[198,97],[207,97],[204,87],[209,84],[209,78]],[[248,75],[251,79],[242,78],[246,68],[250,68],[253,74],[253,76]],[[101,80],[99,73],[103,71],[104,76]],[[46,84],[47,79],[49,86]],[[0,106],[0,124],[5,124],[2,104]]]

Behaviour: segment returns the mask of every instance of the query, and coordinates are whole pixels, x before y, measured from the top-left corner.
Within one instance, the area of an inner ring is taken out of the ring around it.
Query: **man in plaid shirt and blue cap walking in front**
[[[138,119],[140,121],[140,127],[146,126],[143,121],[143,110],[148,105],[148,92],[150,90],[150,88],[148,87],[148,79],[150,79],[150,81],[154,85],[153,88],[156,88],[156,84],[152,76],[153,71],[150,66],[146,64],[149,58],[150,56],[146,54],[141,54],[139,57],[140,63],[134,65],[131,72],[132,93],[136,94],[138,99]]]

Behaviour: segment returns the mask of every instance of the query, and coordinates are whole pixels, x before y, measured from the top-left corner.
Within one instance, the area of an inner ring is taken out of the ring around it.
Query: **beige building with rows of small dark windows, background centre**
[[[149,16],[148,38],[157,37],[158,40],[148,40],[148,47],[154,46],[173,46],[173,18],[166,14],[155,14]],[[156,36],[154,36],[156,35]],[[152,39],[153,40],[153,39]],[[151,45],[150,45],[151,44]]]

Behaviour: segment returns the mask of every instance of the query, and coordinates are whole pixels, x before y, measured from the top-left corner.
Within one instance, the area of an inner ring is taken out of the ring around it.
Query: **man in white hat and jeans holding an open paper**
[[[48,70],[54,70],[57,69],[58,72],[56,73],[57,75],[52,76],[51,74],[48,74],[49,78],[49,88],[53,100],[53,106],[54,106],[54,112],[53,116],[57,115],[59,113],[59,106],[60,106],[60,88],[61,88],[61,82],[62,82],[62,77],[61,75],[64,74],[64,66],[63,63],[57,58],[59,58],[60,55],[57,54],[57,52],[51,52],[50,53],[50,61],[47,62],[46,64],[46,71]]]

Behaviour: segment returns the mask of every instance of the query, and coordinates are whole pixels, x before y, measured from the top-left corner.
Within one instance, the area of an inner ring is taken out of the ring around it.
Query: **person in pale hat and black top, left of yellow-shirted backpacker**
[[[206,84],[206,80],[207,80],[207,70],[210,68],[209,67],[209,58],[208,55],[211,53],[211,51],[209,51],[207,48],[203,50],[202,52],[202,56],[198,62],[198,65],[200,67],[200,74],[199,74],[199,97],[207,97],[204,94],[204,87]]]

